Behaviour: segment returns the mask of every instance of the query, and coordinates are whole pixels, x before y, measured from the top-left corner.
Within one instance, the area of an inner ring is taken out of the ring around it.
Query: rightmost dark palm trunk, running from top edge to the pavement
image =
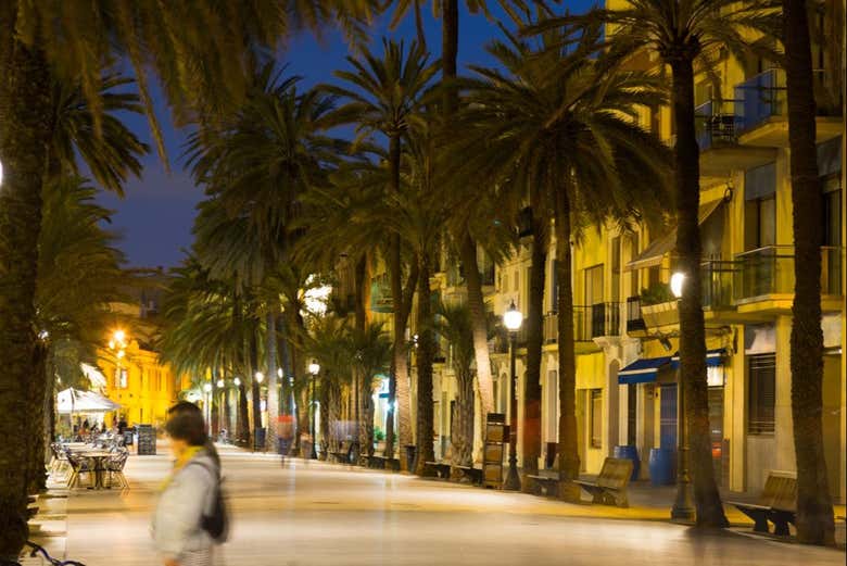
[[[814,144],[816,106],[805,0],[783,3],[794,203],[794,320],[791,337],[792,417],[797,461],[797,540],[834,544],[835,525],[823,456],[821,331],[822,199]]]

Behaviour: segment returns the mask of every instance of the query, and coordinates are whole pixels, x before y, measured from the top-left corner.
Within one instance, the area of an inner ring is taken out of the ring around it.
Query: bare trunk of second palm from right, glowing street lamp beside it
[[[677,196],[677,255],[685,276],[680,300],[680,387],[688,430],[688,461],[694,479],[697,526],[728,527],[720,492],[715,481],[709,431],[709,391],[706,382],[706,330],[703,319],[700,277],[700,172],[694,129],[694,68],[691,59],[671,62],[673,117],[677,124],[674,188]],[[685,451],[681,451],[685,457]]]

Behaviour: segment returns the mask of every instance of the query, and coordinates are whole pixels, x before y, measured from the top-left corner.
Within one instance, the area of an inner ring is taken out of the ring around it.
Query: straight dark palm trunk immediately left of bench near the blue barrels
[[[579,501],[573,483],[580,474],[577,445],[577,355],[573,347],[573,288],[571,286],[570,202],[564,188],[556,192],[556,275],[558,279],[559,343],[559,495]]]

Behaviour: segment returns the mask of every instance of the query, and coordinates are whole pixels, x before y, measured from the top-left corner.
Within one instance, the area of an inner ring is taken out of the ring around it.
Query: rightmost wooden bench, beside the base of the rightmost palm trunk
[[[788,523],[794,525],[797,514],[797,477],[789,471],[773,471],[768,475],[764,488],[756,503],[730,501],[738,511],[755,523],[753,530],[769,532],[768,521],[773,523],[773,533],[787,537]]]

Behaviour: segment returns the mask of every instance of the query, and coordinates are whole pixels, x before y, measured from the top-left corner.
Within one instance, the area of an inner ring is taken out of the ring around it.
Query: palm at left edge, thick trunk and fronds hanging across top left
[[[225,8],[203,0],[172,2],[29,2],[0,5],[0,161],[5,172],[0,192],[0,356],[7,370],[0,378],[4,413],[14,414],[25,400],[24,383],[37,344],[33,331],[37,242],[41,228],[41,189],[48,147],[55,124],[51,68],[79,77],[103,131],[104,103],[99,97],[103,61],[127,60],[135,70],[141,101],[159,152],[164,144],[155,122],[149,77],[155,72],[178,120],[191,112],[212,121],[243,96],[244,53],[276,48],[298,24],[339,22],[351,32],[376,7],[368,0],[305,0],[295,7],[275,2],[238,3]],[[84,34],[79,30],[85,29]],[[359,35],[361,36],[361,35]],[[8,404],[7,404],[8,403]],[[20,414],[20,412],[18,412]],[[0,424],[0,435],[15,436],[23,416]],[[26,541],[25,478],[16,473],[23,448],[0,449],[0,557],[13,558]]]

